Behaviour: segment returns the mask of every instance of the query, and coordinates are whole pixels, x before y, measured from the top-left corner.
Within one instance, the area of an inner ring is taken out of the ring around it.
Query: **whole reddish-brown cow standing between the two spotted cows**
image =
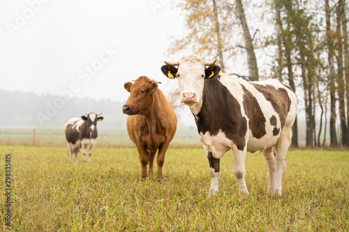
[[[165,153],[177,129],[176,114],[156,81],[142,76],[133,84],[126,82],[124,88],[131,93],[122,110],[129,115],[126,121],[128,135],[140,154],[140,176],[145,180],[148,173],[153,173],[154,157],[158,150],[156,180],[161,182]]]

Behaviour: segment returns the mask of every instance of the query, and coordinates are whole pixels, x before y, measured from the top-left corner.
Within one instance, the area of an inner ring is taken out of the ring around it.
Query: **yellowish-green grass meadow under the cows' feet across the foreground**
[[[349,230],[348,151],[289,151],[281,197],[267,194],[263,155],[248,153],[250,195],[245,199],[237,194],[230,151],[221,159],[220,191],[210,199],[209,164],[202,148],[169,149],[161,184],[154,176],[140,181],[135,148],[97,146],[91,164],[70,162],[65,146],[0,148],[0,178],[5,153],[12,155],[13,174],[12,226],[1,220],[2,230]],[[1,218],[4,209],[1,204]]]

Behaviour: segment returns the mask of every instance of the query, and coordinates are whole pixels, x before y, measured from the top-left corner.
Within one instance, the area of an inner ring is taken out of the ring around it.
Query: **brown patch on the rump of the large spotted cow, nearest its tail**
[[[277,114],[279,114],[281,128],[285,125],[288,111],[290,111],[291,100],[285,88],[276,89],[270,84],[261,85],[251,83],[260,93],[265,96],[265,99],[272,103],[272,106]]]

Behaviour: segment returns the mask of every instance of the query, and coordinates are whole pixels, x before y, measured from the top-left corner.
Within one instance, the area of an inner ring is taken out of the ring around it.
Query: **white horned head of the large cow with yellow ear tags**
[[[221,70],[218,65],[214,65],[216,60],[208,62],[200,56],[188,55],[182,56],[179,61],[165,63],[161,67],[163,74],[168,78],[178,79],[181,102],[188,105],[193,114],[197,114],[202,105],[205,81],[215,78]]]

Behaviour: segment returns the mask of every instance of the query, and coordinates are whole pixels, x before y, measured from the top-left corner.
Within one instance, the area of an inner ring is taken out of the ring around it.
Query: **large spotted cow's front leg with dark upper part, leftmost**
[[[211,173],[211,186],[209,187],[209,196],[215,196],[219,190],[219,159],[216,159],[209,148],[204,145],[204,150],[209,159],[209,172]]]

